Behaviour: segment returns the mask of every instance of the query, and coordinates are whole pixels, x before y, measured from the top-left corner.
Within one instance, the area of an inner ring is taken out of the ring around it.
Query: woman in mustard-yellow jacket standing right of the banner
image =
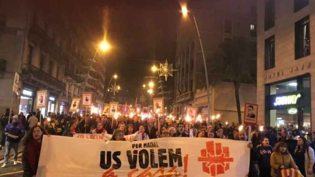
[[[271,176],[282,177],[281,170],[288,168],[298,169],[288,147],[284,142],[278,142],[270,157]]]

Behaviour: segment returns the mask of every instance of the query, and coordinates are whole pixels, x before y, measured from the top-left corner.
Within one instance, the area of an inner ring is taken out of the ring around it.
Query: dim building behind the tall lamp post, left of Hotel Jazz
[[[235,36],[249,39],[252,42],[253,51],[256,51],[257,2],[252,0],[188,1],[186,5],[189,13],[187,18],[181,17],[177,32],[175,67],[178,71],[174,77],[175,99],[173,112],[177,117],[184,118],[185,107],[196,106],[198,107],[198,113],[204,117],[208,117],[209,114],[220,113],[226,121],[237,122],[236,106],[233,107],[234,102],[236,102],[235,96],[233,96],[233,87],[228,87],[231,98],[226,98],[226,100],[234,100],[232,102],[233,106],[226,105],[222,107],[222,105],[219,105],[221,101],[219,101],[218,95],[221,95],[222,90],[218,88],[226,83],[222,83],[216,88],[209,88],[211,112],[208,113],[203,57],[192,14],[198,24],[206,62],[211,62],[210,59],[219,48],[219,45]],[[253,60],[255,62],[255,56],[253,56]],[[250,92],[249,94],[255,95],[255,86],[253,85],[250,88],[247,89]],[[240,90],[240,93],[244,91]],[[243,96],[245,97],[245,95]],[[241,100],[244,99],[241,98]],[[246,101],[255,103],[256,98],[254,96]],[[244,110],[243,107],[244,105],[241,105],[241,110]]]

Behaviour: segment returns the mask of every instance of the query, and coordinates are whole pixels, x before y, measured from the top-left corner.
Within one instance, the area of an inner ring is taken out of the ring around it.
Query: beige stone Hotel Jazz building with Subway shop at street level
[[[315,1],[258,1],[258,120],[267,126],[314,127]]]

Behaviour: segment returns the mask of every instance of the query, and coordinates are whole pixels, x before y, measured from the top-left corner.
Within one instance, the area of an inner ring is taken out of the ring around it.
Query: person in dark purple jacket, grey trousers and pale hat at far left
[[[24,136],[24,126],[19,122],[18,116],[12,117],[12,123],[4,128],[4,134],[7,136],[4,153],[4,163],[2,168],[7,167],[11,148],[14,150],[14,165],[18,164],[18,146],[21,138]]]

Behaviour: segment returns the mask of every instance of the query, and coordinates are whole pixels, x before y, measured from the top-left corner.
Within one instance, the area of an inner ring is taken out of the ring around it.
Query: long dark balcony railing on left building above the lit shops
[[[66,90],[66,84],[58,80],[57,78],[49,75],[45,71],[33,66],[31,64],[23,64],[22,65],[22,75],[31,75],[31,78],[43,83],[44,85],[59,89],[60,91]]]

